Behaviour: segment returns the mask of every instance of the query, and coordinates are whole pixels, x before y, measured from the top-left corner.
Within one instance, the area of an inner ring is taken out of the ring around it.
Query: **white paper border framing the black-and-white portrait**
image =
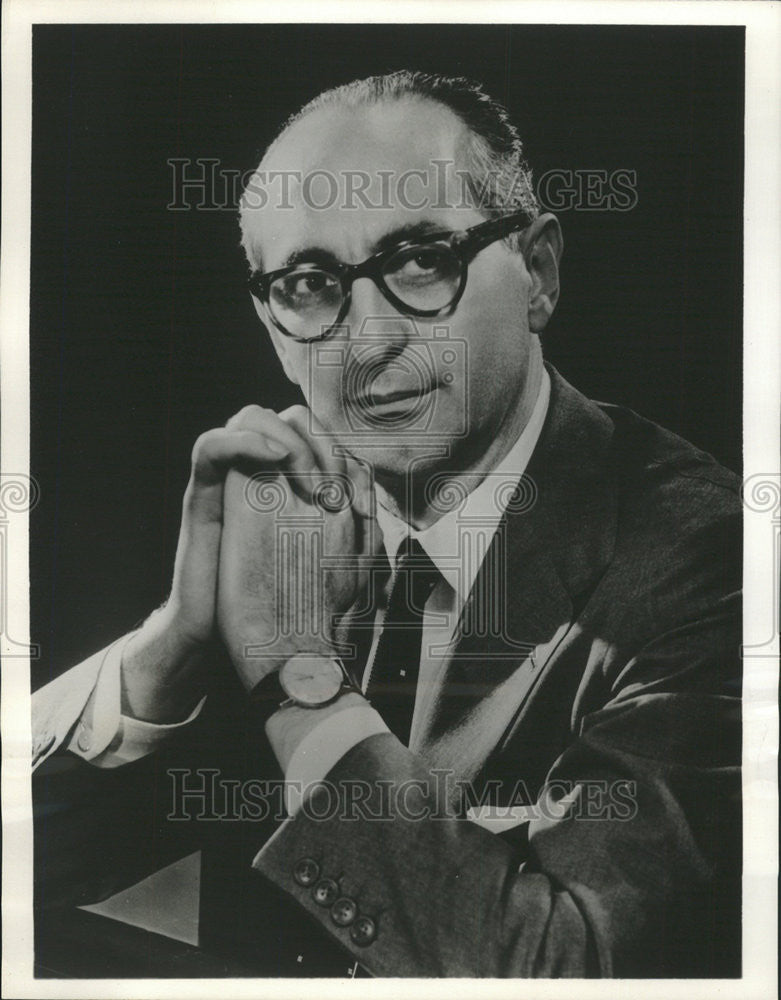
[[[3,476],[29,477],[29,289],[32,25],[40,23],[522,23],[744,25],[745,264],[744,481],[744,920],[740,980],[269,980],[34,979],[32,819],[29,782],[29,660],[6,658],[2,671],[3,969],[9,997],[179,998],[230,995],[362,997],[402,995],[535,998],[611,997],[694,1000],[776,996],[778,873],[778,566],[781,550],[781,5],[761,0],[6,0],[2,9],[2,245],[0,247],[0,401]],[[0,486],[3,480],[0,480]],[[28,519],[8,533],[9,633],[29,636]],[[4,541],[4,540],[0,540]],[[2,553],[0,553],[2,554]],[[0,565],[0,568],[2,566]],[[0,635],[2,638],[2,635]]]

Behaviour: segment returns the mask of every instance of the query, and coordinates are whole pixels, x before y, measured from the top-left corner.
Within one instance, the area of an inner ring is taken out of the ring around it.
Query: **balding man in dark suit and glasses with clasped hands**
[[[39,695],[41,907],[201,847],[201,943],[259,975],[739,974],[737,483],[543,364],[506,113],[326,92],[241,224],[306,406],[199,439],[166,605]]]

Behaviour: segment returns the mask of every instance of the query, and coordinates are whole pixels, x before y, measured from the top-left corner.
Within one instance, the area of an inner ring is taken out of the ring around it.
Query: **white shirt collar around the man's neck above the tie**
[[[428,528],[419,531],[411,528],[377,503],[377,522],[391,566],[404,539],[408,535],[416,538],[461,602],[466,601],[512,492],[539,440],[549,401],[550,377],[543,369],[537,401],[518,440],[462,503]]]

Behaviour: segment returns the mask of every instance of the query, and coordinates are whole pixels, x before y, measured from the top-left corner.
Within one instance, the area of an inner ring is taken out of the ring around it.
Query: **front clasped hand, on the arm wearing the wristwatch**
[[[217,590],[217,625],[252,688],[295,653],[331,651],[333,616],[365,579],[370,485],[303,407],[248,407],[227,429],[257,438],[256,462],[226,477]]]

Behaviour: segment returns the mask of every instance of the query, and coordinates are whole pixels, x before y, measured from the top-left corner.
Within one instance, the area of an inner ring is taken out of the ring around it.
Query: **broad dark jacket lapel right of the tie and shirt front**
[[[469,780],[533,698],[613,550],[612,422],[549,368],[551,401],[412,749]],[[533,502],[530,502],[533,500]]]

